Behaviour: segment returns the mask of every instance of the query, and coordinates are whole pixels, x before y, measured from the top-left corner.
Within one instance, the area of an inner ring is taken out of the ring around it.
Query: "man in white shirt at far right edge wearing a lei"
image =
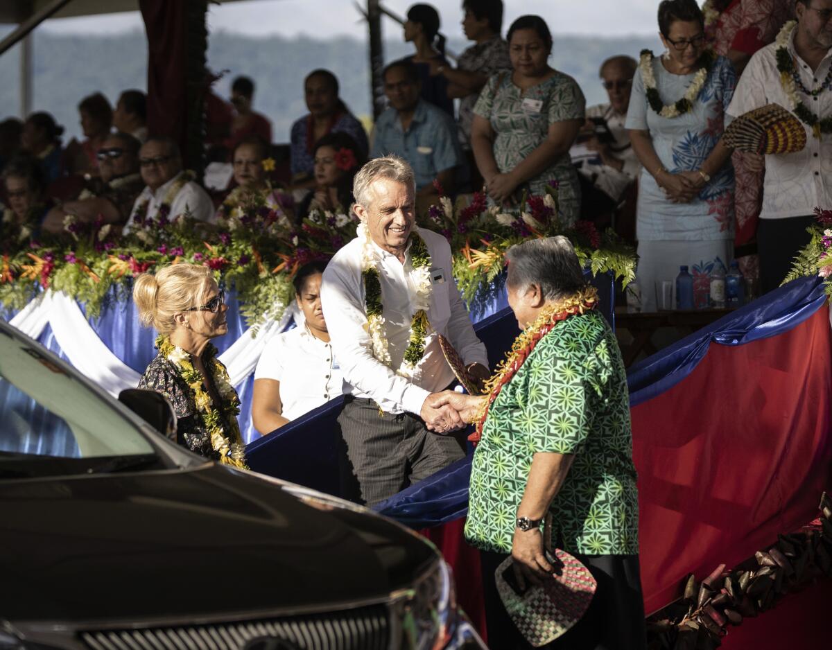
[[[806,130],[805,149],[793,154],[746,154],[756,169],[765,165],[763,205],[757,225],[760,288],[765,293],[780,286],[795,254],[809,243],[806,228],[815,223],[815,208],[832,206],[832,0],[797,0],[797,25],[786,40],[778,63],[777,42],[751,57],[728,106],[732,117],[765,104],[795,110],[785,91],[778,66],[790,62],[787,78],[794,80],[795,99],[818,122],[813,129],[795,111]],[[804,111],[801,111],[803,113]],[[807,118],[808,119],[808,118]],[[821,123],[827,125],[821,132]],[[751,165],[750,165],[751,166]]]

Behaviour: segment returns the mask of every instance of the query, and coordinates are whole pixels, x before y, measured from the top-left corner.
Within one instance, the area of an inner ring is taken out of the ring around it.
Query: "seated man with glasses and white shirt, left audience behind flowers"
[[[148,139],[139,150],[139,168],[146,187],[133,204],[125,234],[134,224],[143,228],[164,226],[186,212],[197,221],[214,219],[210,196],[182,170],[179,145],[174,140]]]

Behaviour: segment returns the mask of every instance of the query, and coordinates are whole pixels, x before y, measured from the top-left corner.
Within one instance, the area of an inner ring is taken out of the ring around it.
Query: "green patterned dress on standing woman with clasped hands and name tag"
[[[571,76],[555,71],[537,86],[521,91],[511,73],[492,76],[480,93],[473,112],[491,122],[494,130],[494,160],[501,172],[508,173],[546,140],[555,122],[585,119],[583,93]],[[551,181],[560,187],[561,219],[574,224],[581,211],[581,187],[577,170],[565,152],[542,174],[519,190],[543,195]]]

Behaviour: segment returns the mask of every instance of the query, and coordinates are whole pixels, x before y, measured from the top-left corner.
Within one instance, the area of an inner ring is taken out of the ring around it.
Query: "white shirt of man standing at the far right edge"
[[[826,53],[814,73],[795,52],[795,31],[791,32],[789,52],[796,62],[800,80],[806,88],[820,86],[832,65],[832,50]],[[745,66],[728,106],[728,115],[739,117],[766,104],[780,104],[786,110],[791,103],[780,84],[777,70],[777,44],[763,47]],[[797,89],[798,98],[821,119],[832,116],[832,90],[821,91],[813,98]],[[801,121],[801,124],[803,122]],[[804,124],[806,146],[793,154],[765,156],[763,207],[760,219],[785,219],[813,214],[815,207],[832,205],[832,133],[824,133],[820,140]]]

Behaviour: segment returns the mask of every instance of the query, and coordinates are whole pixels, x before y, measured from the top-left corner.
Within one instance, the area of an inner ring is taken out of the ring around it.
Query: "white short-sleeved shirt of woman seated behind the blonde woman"
[[[281,415],[289,420],[341,395],[344,378],[332,345],[310,333],[305,323],[266,343],[255,370],[255,381],[280,382]]]

